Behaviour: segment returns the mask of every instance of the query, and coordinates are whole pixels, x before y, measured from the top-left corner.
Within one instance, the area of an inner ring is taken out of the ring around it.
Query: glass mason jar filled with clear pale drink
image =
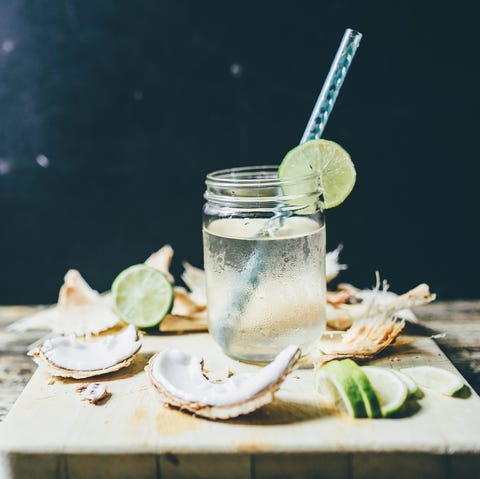
[[[207,175],[203,248],[208,327],[223,351],[269,361],[303,354],[325,330],[325,222],[319,179],[278,167]]]

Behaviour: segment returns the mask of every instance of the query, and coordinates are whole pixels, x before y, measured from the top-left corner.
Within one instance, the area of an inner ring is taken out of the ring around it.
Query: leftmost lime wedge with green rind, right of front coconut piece
[[[352,417],[366,417],[362,393],[343,361],[330,361],[315,373],[316,390]]]

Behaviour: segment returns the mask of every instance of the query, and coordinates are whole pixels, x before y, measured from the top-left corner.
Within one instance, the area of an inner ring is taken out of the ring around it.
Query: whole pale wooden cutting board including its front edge
[[[450,398],[425,390],[408,417],[352,419],[322,402],[311,370],[298,370],[271,405],[214,422],[160,403],[144,367],[165,347],[204,356],[217,373],[256,368],[225,357],[206,334],[147,336],[128,369],[98,379],[112,393],[98,406],[80,401],[82,381],[48,385],[39,368],[0,424],[0,478],[480,476],[480,398],[473,391]],[[457,372],[432,339],[413,336],[372,363]]]

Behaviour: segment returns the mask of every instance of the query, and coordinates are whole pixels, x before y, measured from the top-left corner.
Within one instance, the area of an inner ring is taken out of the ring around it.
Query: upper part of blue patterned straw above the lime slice
[[[315,103],[300,143],[315,140],[322,136],[328,117],[338,97],[338,92],[340,88],[342,88],[343,81],[347,76],[348,69],[352,64],[353,57],[360,45],[361,39],[362,34],[360,32],[356,32],[350,28],[345,30],[342,42],[330,66],[327,78],[325,79],[320,95],[318,95],[317,102]]]

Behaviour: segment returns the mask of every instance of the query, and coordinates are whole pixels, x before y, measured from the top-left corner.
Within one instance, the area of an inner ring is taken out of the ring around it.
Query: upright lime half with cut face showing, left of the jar
[[[136,264],[115,278],[112,299],[123,321],[138,328],[151,328],[159,324],[170,311],[173,287],[157,269]]]

